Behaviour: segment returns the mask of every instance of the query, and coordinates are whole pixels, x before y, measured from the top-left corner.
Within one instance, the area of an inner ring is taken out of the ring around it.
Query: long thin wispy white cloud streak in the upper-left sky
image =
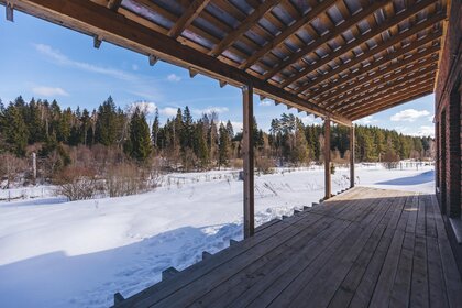
[[[85,62],[74,61],[67,57],[66,55],[62,54],[59,51],[53,50],[51,46],[45,45],[45,44],[35,44],[35,50],[59,65],[70,66],[78,69],[91,72],[91,73],[103,74],[103,75],[111,76],[111,77],[122,79],[122,80],[135,79],[133,75],[128,74],[123,70],[109,68],[109,67],[101,67],[101,66],[97,66],[97,65],[85,63]]]

